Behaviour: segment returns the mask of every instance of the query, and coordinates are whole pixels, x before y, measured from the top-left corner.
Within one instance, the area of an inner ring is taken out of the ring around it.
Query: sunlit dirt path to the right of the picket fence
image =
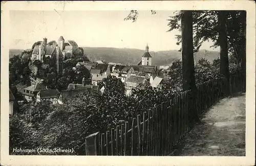
[[[245,156],[245,94],[221,100],[187,134],[176,156]]]

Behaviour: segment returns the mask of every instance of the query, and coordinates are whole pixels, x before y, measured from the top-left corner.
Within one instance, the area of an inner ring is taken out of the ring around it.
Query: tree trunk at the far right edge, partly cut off
[[[244,80],[246,81],[246,11],[241,11],[240,21],[241,21],[241,29],[242,29],[241,50],[240,50],[241,72]],[[246,87],[245,81],[244,81],[244,88]]]

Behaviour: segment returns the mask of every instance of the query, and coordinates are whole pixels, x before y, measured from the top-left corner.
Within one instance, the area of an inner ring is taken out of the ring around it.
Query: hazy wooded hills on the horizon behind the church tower
[[[141,56],[144,54],[144,50],[139,49],[117,49],[117,48],[92,48],[92,47],[82,47],[84,53],[87,55],[90,61],[102,60],[107,63],[122,63],[122,64],[134,64],[137,65]],[[26,51],[29,51],[27,49]],[[23,50],[18,49],[10,49],[9,50],[9,58],[14,55],[18,55],[22,53]],[[167,51],[158,51],[158,52],[150,52],[153,57],[152,63],[153,65],[170,65],[176,59],[181,59],[181,52],[176,50],[167,50]],[[198,61],[201,58],[206,58],[208,61],[212,62],[212,60],[219,57],[219,52],[216,51],[208,51],[208,50],[200,50],[194,56],[195,61]]]

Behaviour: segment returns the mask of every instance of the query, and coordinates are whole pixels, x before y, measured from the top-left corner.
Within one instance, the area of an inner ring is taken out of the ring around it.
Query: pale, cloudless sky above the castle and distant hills
[[[168,31],[167,19],[174,11],[138,11],[136,22],[124,20],[129,11],[10,11],[10,49],[30,49],[34,42],[74,40],[78,46],[179,50],[174,30]],[[205,42],[201,49],[210,48]]]

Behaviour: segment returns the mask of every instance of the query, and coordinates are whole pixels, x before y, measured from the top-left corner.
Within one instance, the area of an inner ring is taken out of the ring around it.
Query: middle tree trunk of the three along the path
[[[219,22],[219,44],[220,44],[220,73],[224,76],[224,91],[229,95],[229,63],[228,63],[228,47],[227,47],[227,33],[226,33],[226,11],[218,12]]]

